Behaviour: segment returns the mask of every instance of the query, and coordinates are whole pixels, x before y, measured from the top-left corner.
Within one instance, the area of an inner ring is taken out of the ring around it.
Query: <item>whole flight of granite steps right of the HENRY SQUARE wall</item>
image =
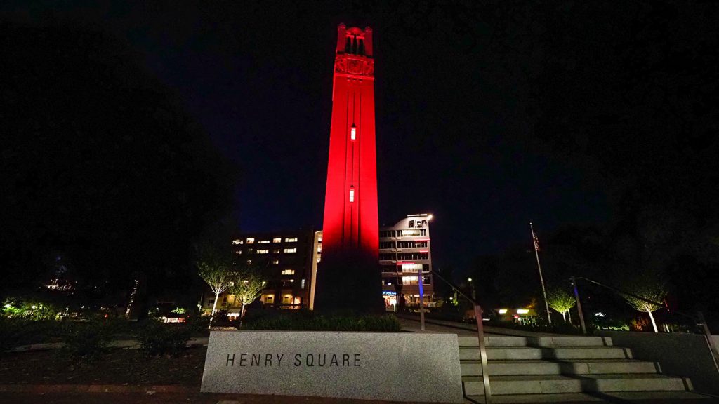
[[[484,403],[476,336],[458,336],[464,395]],[[600,398],[704,398],[684,377],[663,375],[656,362],[594,336],[485,336],[494,403]]]

